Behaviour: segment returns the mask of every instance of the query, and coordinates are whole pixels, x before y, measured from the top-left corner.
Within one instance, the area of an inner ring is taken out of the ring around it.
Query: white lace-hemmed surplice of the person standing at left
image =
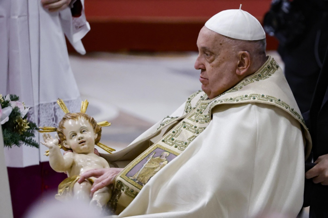
[[[85,16],[74,19],[85,20]],[[80,93],[69,65],[64,32],[84,54],[81,38],[89,30],[88,23],[76,31],[69,8],[49,13],[40,0],[10,0],[0,1],[0,25],[0,93],[17,94],[31,107],[29,119],[38,126],[58,125],[64,113],[56,105],[57,98],[71,111],[78,111]],[[44,150],[27,146],[6,149],[7,166],[48,161]]]

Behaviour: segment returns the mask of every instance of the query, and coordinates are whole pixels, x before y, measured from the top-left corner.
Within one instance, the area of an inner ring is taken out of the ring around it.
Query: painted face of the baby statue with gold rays
[[[63,141],[63,145],[65,147],[78,154],[93,153],[97,134],[86,119],[68,120],[64,127],[66,140]]]

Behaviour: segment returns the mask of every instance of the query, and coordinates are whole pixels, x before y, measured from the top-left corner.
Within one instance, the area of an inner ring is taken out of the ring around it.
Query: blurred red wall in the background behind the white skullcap
[[[261,22],[271,0],[86,0],[86,51],[196,51],[208,18],[242,9]],[[267,49],[277,41],[267,37]],[[69,47],[70,51],[73,51]]]

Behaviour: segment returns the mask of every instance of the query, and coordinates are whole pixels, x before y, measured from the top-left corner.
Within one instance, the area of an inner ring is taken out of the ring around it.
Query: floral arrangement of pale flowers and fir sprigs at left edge
[[[37,126],[33,122],[27,121],[29,108],[24,102],[19,102],[19,97],[15,94],[8,94],[5,97],[0,94],[0,124],[2,126],[3,142],[5,147],[25,144],[38,148],[38,143],[33,140],[34,131]]]

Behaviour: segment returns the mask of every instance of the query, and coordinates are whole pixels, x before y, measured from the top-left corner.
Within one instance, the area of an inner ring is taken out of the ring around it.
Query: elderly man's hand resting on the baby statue
[[[83,173],[77,182],[81,184],[87,178],[96,177],[97,179],[94,181],[91,187],[90,197],[92,197],[95,191],[114,183],[115,177],[122,170],[123,168],[104,168],[104,169],[89,170]]]

